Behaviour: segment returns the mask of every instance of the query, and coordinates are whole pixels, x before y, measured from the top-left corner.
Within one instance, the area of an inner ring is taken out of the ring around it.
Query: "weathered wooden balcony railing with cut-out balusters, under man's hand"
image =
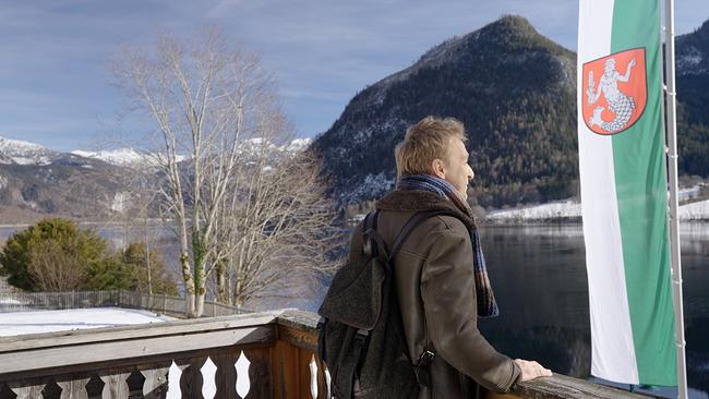
[[[0,398],[329,398],[297,310],[0,338]],[[489,398],[639,398],[554,376]]]

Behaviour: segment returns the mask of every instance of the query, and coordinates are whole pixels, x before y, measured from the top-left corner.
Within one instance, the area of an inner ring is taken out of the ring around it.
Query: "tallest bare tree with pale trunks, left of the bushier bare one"
[[[243,226],[227,217],[265,189],[254,180],[265,174],[253,173],[256,165],[265,168],[265,153],[254,159],[247,146],[274,145],[289,131],[274,78],[257,56],[230,48],[217,29],[194,40],[161,36],[153,57],[125,49],[113,73],[157,126],[158,148],[148,156],[164,178],[160,201],[176,225],[185,311],[196,317],[207,279],[215,270],[224,278],[237,253],[225,243],[249,246],[233,239],[243,237]]]

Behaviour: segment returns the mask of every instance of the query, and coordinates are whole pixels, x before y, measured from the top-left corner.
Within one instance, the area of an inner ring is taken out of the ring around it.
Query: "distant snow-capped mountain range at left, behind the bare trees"
[[[260,150],[261,143],[244,142],[243,156]],[[310,143],[300,138],[266,147],[274,155],[293,155]],[[151,161],[133,148],[62,153],[0,137],[0,223],[47,216],[97,220],[127,211],[128,179],[136,168],[151,168]]]

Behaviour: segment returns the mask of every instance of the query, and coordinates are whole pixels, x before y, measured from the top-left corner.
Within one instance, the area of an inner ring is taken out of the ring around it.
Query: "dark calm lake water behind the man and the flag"
[[[15,230],[0,228],[0,241]],[[115,244],[125,235],[115,226],[98,231]],[[170,234],[165,228],[151,233],[166,259],[176,264]],[[481,237],[502,311],[500,317],[480,322],[483,335],[512,358],[538,360],[556,373],[588,378],[591,347],[581,225],[488,226]],[[690,397],[709,398],[709,223],[682,225],[681,242]],[[324,290],[303,292],[298,300],[257,307],[316,311]],[[656,394],[672,396],[668,390]]]

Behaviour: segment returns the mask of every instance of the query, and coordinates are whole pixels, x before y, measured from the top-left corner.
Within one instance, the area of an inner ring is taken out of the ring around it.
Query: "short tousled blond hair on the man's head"
[[[407,129],[404,141],[394,149],[397,176],[430,174],[434,159],[447,158],[453,138],[464,143],[468,140],[460,121],[455,118],[423,118]]]

